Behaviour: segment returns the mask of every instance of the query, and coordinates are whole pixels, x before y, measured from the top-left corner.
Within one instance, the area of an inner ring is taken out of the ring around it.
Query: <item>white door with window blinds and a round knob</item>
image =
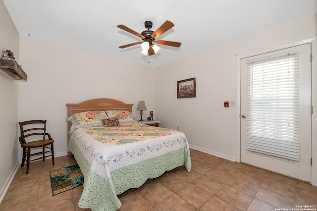
[[[241,162],[311,181],[311,44],[240,60]]]

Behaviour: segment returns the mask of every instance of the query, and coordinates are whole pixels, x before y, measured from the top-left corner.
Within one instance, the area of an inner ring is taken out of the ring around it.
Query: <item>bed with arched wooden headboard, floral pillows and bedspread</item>
[[[184,165],[191,170],[184,133],[138,123],[133,104],[93,99],[67,106],[68,151],[84,175],[80,208],[115,211],[117,195]]]

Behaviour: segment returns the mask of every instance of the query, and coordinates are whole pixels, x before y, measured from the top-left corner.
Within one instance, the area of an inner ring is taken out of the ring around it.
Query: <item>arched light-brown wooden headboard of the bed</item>
[[[98,98],[81,102],[79,104],[66,104],[67,117],[84,111],[91,110],[127,110],[132,113],[133,104],[125,104],[109,98]],[[71,123],[67,122],[67,145],[69,141],[68,131],[70,130]]]

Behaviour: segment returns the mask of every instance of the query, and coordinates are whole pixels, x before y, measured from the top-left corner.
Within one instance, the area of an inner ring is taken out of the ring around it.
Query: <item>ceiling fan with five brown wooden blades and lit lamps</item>
[[[164,40],[157,40],[155,41],[161,34],[166,32],[167,30],[171,29],[174,24],[168,20],[165,21],[155,32],[150,30],[153,26],[153,23],[151,21],[145,21],[144,23],[145,28],[148,30],[143,31],[141,34],[139,34],[136,31],[133,31],[132,29],[124,26],[124,25],[118,25],[117,27],[127,31],[135,36],[138,36],[141,38],[143,41],[142,42],[136,42],[136,43],[131,43],[128,45],[124,46],[119,46],[120,49],[124,49],[130,46],[135,46],[138,44],[141,44],[142,51],[141,53],[143,55],[154,55],[159,52],[160,48],[155,44],[160,44],[160,45],[165,45],[165,46],[172,46],[172,47],[180,47],[182,43],[178,42],[172,42],[172,41],[164,41]]]

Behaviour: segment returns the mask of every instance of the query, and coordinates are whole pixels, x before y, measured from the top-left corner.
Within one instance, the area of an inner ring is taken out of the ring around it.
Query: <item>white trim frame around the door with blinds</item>
[[[243,58],[250,57],[250,56],[260,55],[260,54],[264,54],[264,53],[270,53],[270,52],[274,52],[274,51],[278,51],[278,50],[282,50],[282,49],[287,49],[287,48],[292,48],[295,46],[300,46],[300,45],[309,44],[309,43],[312,44],[313,40],[315,40],[315,37],[310,38],[310,39],[306,39],[306,40],[302,40],[302,41],[298,41],[295,43],[290,43],[287,45],[275,47],[272,49],[263,50],[263,51],[256,52],[256,53],[250,53],[250,54],[236,56],[237,57],[237,61],[236,61],[237,62],[237,99],[236,99],[236,116],[237,116],[237,118],[236,118],[236,125],[237,125],[237,130],[236,130],[236,132],[237,132],[237,134],[236,134],[236,140],[237,140],[236,149],[237,149],[237,151],[236,151],[236,155],[237,155],[237,157],[236,157],[236,161],[237,162],[241,162],[241,149],[240,149],[240,146],[241,146],[241,133],[240,133],[240,130],[241,130],[241,122],[240,122],[240,109],[241,109],[241,105],[240,105],[240,103],[241,103],[240,102],[240,97],[241,97],[240,96],[240,72],[241,72],[241,69],[240,69],[240,60]],[[313,69],[312,69],[312,71],[313,71]],[[312,89],[313,89],[313,85],[312,85]],[[312,95],[313,95],[313,93],[312,93]],[[315,108],[315,110],[316,110],[316,108]],[[312,142],[313,142],[313,140],[312,140]],[[313,148],[311,147],[311,149],[313,149]],[[313,156],[314,155],[312,155],[312,157]],[[317,160],[315,162],[317,162]],[[312,172],[313,172],[313,169],[311,169],[311,173]],[[311,175],[311,178],[312,178],[312,184],[313,184],[313,175]],[[316,185],[317,184],[315,184],[315,186]]]

